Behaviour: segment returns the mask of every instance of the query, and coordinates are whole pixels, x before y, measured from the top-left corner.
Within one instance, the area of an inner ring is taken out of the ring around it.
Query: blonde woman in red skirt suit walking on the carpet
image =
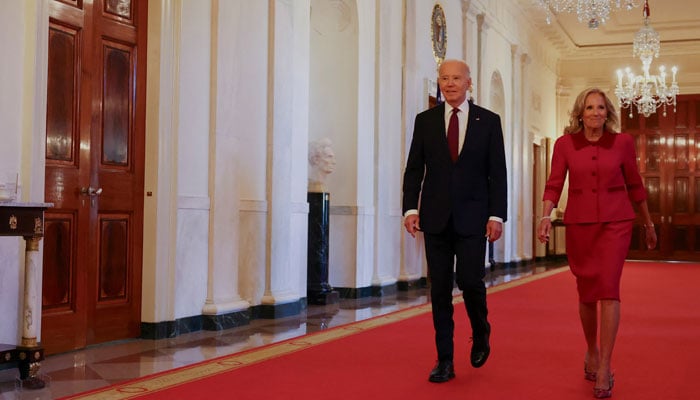
[[[559,201],[568,173],[566,253],[576,277],[579,315],[588,346],[584,376],[595,381],[596,398],[612,395],[610,359],[620,322],[620,277],[632,237],[633,203],[644,221],[648,248],[656,247],[634,140],[615,133],[618,121],[612,103],[600,89],[587,89],[578,95],[565,135],[554,144],[537,230],[538,239],[545,243],[552,230],[549,214]]]

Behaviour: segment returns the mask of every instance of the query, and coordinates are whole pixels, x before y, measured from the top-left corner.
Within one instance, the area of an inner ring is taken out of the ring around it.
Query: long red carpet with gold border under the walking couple
[[[700,398],[699,282],[699,264],[626,265],[614,399]],[[568,271],[498,286],[488,301],[491,358],[480,369],[469,365],[466,313],[457,304],[457,377],[444,384],[427,380],[435,350],[429,308],[421,306],[71,398],[592,398]]]

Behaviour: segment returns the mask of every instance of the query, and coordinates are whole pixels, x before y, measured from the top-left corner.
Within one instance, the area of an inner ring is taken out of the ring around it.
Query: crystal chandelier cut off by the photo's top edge
[[[552,16],[561,13],[576,13],[579,22],[586,22],[590,29],[604,24],[613,8],[624,7],[631,10],[639,7],[639,0],[538,0],[544,9],[547,24],[552,23]]]

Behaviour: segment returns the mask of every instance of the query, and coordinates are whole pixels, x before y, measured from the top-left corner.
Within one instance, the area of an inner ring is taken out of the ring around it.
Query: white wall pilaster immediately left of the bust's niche
[[[290,0],[269,1],[267,80],[271,85],[267,88],[267,195],[269,199],[267,237],[269,241],[266,247],[269,264],[265,278],[265,294],[262,297],[264,305],[290,303],[300,298],[299,268],[302,266],[295,264],[295,261],[298,262],[300,259],[293,256],[295,251],[292,248],[292,238],[305,230],[300,230],[299,226],[292,226],[295,214],[298,216],[303,210],[298,206],[300,199],[293,197],[294,185],[300,180],[300,171],[297,169],[297,174],[293,173],[295,164],[291,149],[300,147],[299,141],[294,138],[295,62],[299,62],[295,47],[299,43],[296,40],[295,29],[308,29],[308,24],[297,26],[301,21],[295,13],[296,7],[304,7],[308,10],[308,4],[295,4]],[[301,65],[308,64],[302,61]],[[299,218],[296,220],[298,221]]]

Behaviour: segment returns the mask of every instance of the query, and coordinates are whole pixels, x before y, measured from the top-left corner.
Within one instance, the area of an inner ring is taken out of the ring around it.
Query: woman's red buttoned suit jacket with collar
[[[555,207],[569,174],[565,224],[624,221],[635,218],[632,202],[647,197],[637,168],[634,139],[604,132],[597,142],[583,132],[567,134],[554,143],[552,169],[543,200]]]

